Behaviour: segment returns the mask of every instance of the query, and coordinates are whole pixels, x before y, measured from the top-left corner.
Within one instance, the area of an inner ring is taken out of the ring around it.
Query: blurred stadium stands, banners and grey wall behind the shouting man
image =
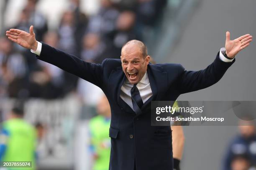
[[[156,62],[200,70],[225,45],[225,31],[231,38],[254,34],[255,7],[255,0],[1,0],[0,121],[15,100],[26,101],[25,120],[44,129],[38,169],[90,170],[89,122],[101,90],[36,60],[6,40],[6,30],[34,25],[38,41],[97,63],[119,58],[128,40],[143,40]],[[179,100],[256,100],[253,49],[252,42],[216,85]],[[218,170],[237,127],[184,127],[184,133],[182,169]]]

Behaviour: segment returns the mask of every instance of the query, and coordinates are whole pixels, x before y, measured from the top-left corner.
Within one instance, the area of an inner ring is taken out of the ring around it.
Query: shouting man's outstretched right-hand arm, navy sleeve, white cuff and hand
[[[230,32],[226,32],[224,54],[218,53],[211,65],[200,71],[186,71],[182,67],[178,87],[180,93],[200,90],[218,82],[226,70],[228,70],[228,67],[235,62],[235,56],[238,52],[248,47],[251,41],[252,36],[249,34],[238,37],[235,40],[230,40]]]

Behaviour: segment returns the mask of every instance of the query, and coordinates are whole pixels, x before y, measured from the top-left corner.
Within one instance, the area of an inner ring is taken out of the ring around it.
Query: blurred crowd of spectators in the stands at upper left
[[[154,28],[166,3],[167,0],[100,0],[98,12],[87,16],[80,10],[80,0],[69,0],[58,29],[49,30],[47,18],[36,10],[38,0],[28,0],[12,28],[29,32],[33,25],[36,40],[87,62],[101,63],[105,58],[119,58],[121,47],[128,40],[143,40],[143,30]],[[78,80],[40,62],[30,50],[13,44],[5,35],[0,36],[0,97],[56,99],[77,91]]]

